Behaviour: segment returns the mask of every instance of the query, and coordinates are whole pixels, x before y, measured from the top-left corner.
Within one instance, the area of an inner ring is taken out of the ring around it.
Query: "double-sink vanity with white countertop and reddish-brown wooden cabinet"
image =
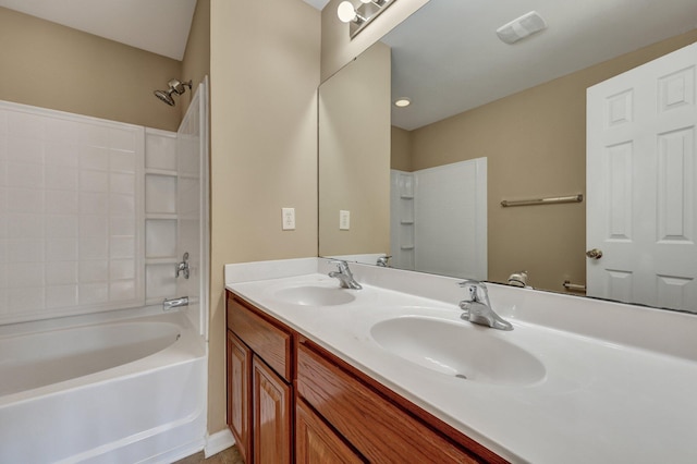
[[[247,462],[697,462],[697,317],[321,258],[225,267]],[[334,274],[335,276],[335,274]]]

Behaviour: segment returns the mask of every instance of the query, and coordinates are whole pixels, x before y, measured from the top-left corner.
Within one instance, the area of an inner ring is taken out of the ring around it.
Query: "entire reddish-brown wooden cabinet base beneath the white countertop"
[[[228,422],[245,462],[506,462],[232,293],[227,315]]]

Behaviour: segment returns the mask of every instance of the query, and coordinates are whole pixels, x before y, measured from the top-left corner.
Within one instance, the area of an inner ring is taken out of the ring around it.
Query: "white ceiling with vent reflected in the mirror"
[[[533,10],[546,30],[499,40]],[[412,99],[392,123],[420,127],[696,27],[697,0],[430,0],[382,39],[392,96]]]

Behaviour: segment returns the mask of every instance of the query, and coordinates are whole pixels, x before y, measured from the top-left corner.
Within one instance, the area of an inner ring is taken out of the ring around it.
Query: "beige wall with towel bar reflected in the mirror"
[[[585,193],[586,88],[697,40],[697,30],[413,131],[413,169],[488,158],[489,279],[527,270],[536,288],[586,281],[585,203],[502,199]]]

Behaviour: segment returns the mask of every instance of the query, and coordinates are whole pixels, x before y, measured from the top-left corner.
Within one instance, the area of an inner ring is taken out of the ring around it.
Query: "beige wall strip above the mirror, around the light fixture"
[[[348,24],[342,23],[337,16],[337,7],[341,1],[330,0],[322,10],[322,82],[428,2],[428,0],[400,0],[352,39],[348,36]],[[353,3],[360,4],[355,0]]]

